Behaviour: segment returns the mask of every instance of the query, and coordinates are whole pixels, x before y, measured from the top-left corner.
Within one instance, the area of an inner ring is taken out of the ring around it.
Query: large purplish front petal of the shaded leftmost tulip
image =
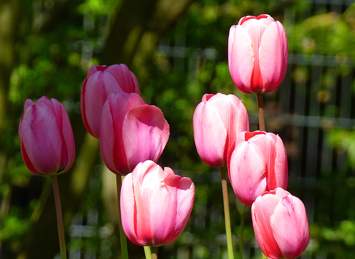
[[[50,175],[58,172],[60,166],[61,139],[53,103],[48,99],[48,105],[47,99],[42,99],[43,102],[38,100],[26,109],[19,131],[23,147],[35,170]]]

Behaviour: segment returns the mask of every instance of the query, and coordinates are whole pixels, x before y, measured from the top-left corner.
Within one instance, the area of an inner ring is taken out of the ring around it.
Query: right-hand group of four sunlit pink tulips
[[[285,29],[271,16],[242,17],[230,28],[229,70],[240,91],[260,94],[277,88],[284,79],[287,58]],[[260,118],[263,120],[263,114]],[[202,97],[193,114],[193,130],[202,161],[214,167],[228,166],[235,195],[251,206],[261,251],[272,259],[299,257],[310,234],[305,206],[285,191],[288,166],[281,138],[266,131],[250,132],[244,104],[236,96],[222,93]],[[221,176],[223,180],[222,171]],[[224,193],[228,201],[228,192]],[[226,223],[228,239],[227,228]],[[230,254],[233,257],[233,250]]]

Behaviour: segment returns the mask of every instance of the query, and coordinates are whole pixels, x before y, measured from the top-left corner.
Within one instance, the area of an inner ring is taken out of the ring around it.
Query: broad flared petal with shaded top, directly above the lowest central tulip
[[[127,112],[122,125],[122,140],[129,170],[139,162],[157,162],[169,139],[169,124],[155,106],[141,105]]]

